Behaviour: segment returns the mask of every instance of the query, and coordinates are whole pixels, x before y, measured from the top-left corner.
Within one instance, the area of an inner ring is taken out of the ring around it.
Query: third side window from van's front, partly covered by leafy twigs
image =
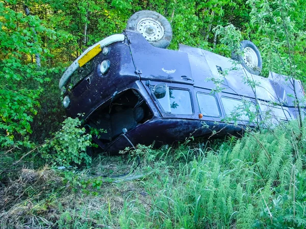
[[[227,97],[222,97],[221,100],[227,117],[248,121],[251,113],[256,113],[256,107],[252,102]]]

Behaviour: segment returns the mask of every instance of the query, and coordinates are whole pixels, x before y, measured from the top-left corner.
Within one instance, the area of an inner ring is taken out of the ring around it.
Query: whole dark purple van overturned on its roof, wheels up
[[[295,103],[304,96],[300,81],[258,76],[260,54],[248,41],[237,63],[186,45],[165,49],[171,26],[155,12],[137,12],[127,24],[122,34],[89,47],[59,84],[68,115],[83,113],[85,126],[101,130],[94,141],[105,151],[237,134],[255,125],[249,114],[279,122],[304,110]]]

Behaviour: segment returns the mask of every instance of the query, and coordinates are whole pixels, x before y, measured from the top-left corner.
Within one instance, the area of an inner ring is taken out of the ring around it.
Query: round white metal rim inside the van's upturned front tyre
[[[153,18],[143,18],[137,23],[137,31],[147,41],[157,41],[164,36],[164,27]]]

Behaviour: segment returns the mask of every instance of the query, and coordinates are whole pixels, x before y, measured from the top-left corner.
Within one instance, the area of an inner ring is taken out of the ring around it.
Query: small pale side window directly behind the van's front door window
[[[215,96],[197,93],[196,98],[203,116],[220,117],[220,110]]]

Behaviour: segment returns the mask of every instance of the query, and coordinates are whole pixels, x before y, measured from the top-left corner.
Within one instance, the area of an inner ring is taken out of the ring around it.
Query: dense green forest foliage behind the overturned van
[[[250,39],[262,50],[264,75],[272,70],[303,80],[303,6],[301,0],[1,1],[0,128],[5,134],[0,144],[29,148],[32,141],[48,136],[46,130],[54,131],[49,126],[61,122],[56,113],[63,112],[58,73],[89,45],[120,33],[138,10],[168,18],[173,28],[170,48],[183,43],[230,56],[233,44],[224,41],[224,34],[236,43]],[[53,122],[43,120],[42,113]],[[41,122],[46,129],[40,128]],[[43,133],[33,133],[34,126]]]

